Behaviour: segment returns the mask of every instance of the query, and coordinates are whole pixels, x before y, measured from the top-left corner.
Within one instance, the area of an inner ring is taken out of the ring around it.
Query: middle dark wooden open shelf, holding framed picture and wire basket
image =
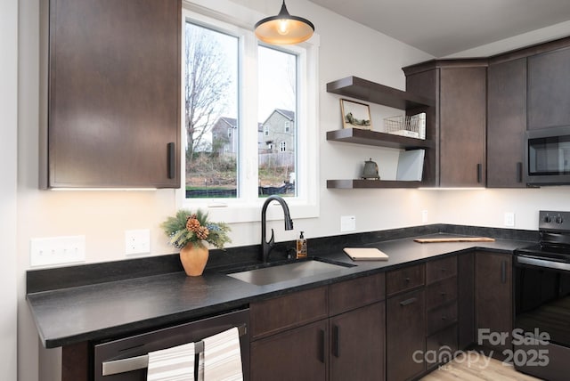
[[[332,142],[352,142],[376,147],[411,150],[417,148],[434,148],[434,142],[407,136],[379,133],[360,128],[344,128],[327,132],[327,140]]]

